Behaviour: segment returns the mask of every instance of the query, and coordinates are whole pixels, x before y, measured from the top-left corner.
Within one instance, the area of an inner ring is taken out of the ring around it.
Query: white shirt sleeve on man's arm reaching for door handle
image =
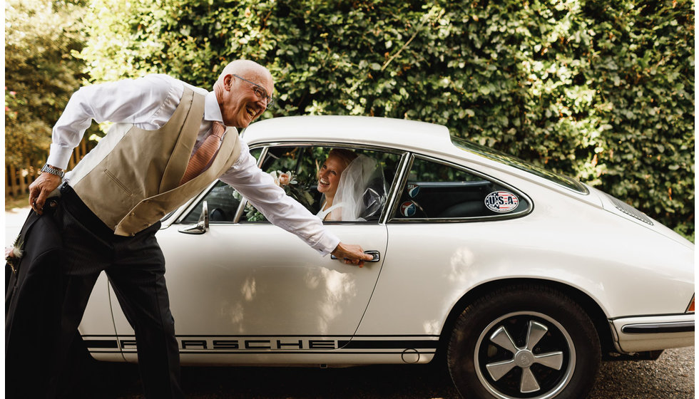
[[[322,221],[292,199],[272,177],[257,167],[248,145],[241,140],[240,157],[220,180],[238,190],[267,220],[296,234],[322,255],[330,254],[340,239],[328,232]]]

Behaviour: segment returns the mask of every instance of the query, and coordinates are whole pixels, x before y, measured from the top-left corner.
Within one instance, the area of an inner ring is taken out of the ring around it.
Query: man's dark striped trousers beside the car
[[[116,236],[65,184],[58,210],[65,256],[58,361],[51,386],[56,389],[61,379],[60,371],[93,286],[105,271],[136,332],[146,398],[183,398],[175,321],[165,286],[165,258],[155,239],[160,222],[133,237]]]

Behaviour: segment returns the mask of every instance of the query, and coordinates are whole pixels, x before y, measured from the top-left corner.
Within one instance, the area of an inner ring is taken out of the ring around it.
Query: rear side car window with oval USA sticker
[[[466,170],[415,157],[394,219],[512,216],[529,210],[524,195]]]

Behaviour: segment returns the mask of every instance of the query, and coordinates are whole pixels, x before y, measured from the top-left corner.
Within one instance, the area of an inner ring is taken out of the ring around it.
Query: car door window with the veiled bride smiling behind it
[[[331,154],[331,150],[333,157],[337,153],[343,153],[348,157],[346,164],[342,164],[348,171],[361,170],[362,172],[352,174],[351,176],[357,177],[353,180],[345,179],[352,182],[351,185],[343,183],[346,187],[352,188],[345,191],[345,197],[350,199],[340,201],[342,204],[335,203],[337,205],[335,209],[339,209],[340,212],[325,215],[325,222],[377,221],[386,204],[388,190],[396,175],[400,155],[342,147],[280,146],[268,148],[261,167],[275,179],[277,185],[280,185],[287,195],[300,202],[312,214],[320,214],[322,207],[327,203],[327,198],[326,190],[319,186],[319,172]],[[345,173],[344,169],[337,177],[341,177],[342,173]],[[348,213],[350,207],[347,205],[350,202],[352,202],[352,216],[347,216],[350,214]],[[337,216],[343,209],[344,219]],[[265,217],[248,204],[245,207],[245,220],[258,222],[265,220]]]

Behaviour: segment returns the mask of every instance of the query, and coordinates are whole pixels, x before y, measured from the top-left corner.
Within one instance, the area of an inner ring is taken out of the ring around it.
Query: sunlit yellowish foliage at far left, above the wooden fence
[[[5,164],[40,166],[51,128],[80,87],[79,20],[83,9],[66,1],[5,3]]]

